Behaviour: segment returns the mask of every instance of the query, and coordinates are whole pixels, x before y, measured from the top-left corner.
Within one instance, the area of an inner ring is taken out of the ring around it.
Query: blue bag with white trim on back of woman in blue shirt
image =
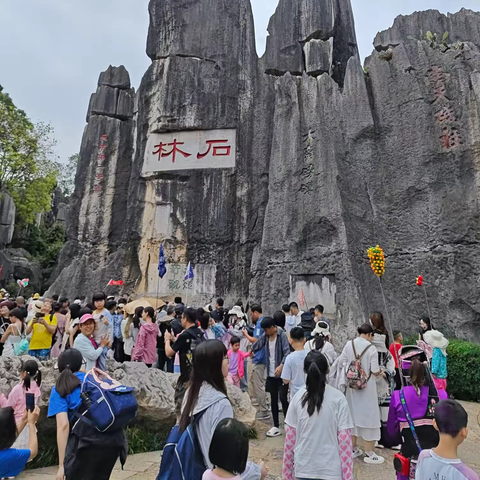
[[[82,383],[82,413],[75,416],[99,432],[124,428],[138,412],[138,403],[132,387],[125,387],[105,372],[93,368]]]

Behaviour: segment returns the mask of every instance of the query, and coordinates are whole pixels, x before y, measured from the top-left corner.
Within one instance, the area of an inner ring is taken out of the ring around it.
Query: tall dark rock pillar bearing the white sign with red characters
[[[139,290],[155,296],[158,286],[160,295],[196,305],[217,294],[245,298],[251,245],[261,237],[270,141],[250,3],[151,0],[149,10],[152,65],[138,91],[128,217],[130,238],[139,242]],[[190,144],[188,132],[202,142]],[[227,152],[233,163],[215,168]],[[161,243],[168,265],[159,281]],[[190,284],[188,262],[195,265]]]

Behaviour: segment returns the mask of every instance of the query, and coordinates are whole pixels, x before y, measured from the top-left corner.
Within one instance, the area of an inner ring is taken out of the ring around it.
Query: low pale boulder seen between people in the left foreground
[[[0,393],[8,396],[12,388],[20,381],[22,362],[35,360],[33,357],[0,357]],[[50,392],[58,377],[54,361],[44,362],[42,370],[42,396],[39,407],[42,418],[46,416]],[[178,378],[175,374],[162,372],[156,368],[147,368],[143,363],[126,362],[123,364],[113,360],[107,361],[107,373],[123,385],[134,387],[138,401],[138,419],[149,424],[169,426],[175,423],[174,387]],[[256,409],[250,402],[248,394],[240,389],[227,385],[228,397],[232,402],[235,418],[248,427],[255,424]],[[46,427],[51,427],[47,423]]]

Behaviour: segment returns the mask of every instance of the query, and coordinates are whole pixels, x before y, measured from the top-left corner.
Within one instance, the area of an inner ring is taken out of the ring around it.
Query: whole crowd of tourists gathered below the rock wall
[[[198,471],[186,474],[191,455],[182,464],[182,435],[192,432],[200,477],[267,476],[267,466],[248,462],[248,429],[233,419],[228,383],[249,393],[259,421],[273,424],[267,437],[284,435],[286,480],[352,480],[355,458],[375,468],[385,448],[397,451],[399,480],[479,480],[458,459],[468,416],[448,399],[448,340],[427,316],[414,345],[403,345],[401,332],[391,338],[382,313],[373,312],[340,348],[322,305],[304,312],[291,302],[264,315],[259,304],[226,308],[221,298],[203,308],[175,298],[131,313],[127,303],[104,293],[91,302],[37,294],[0,303],[1,355],[56,359],[48,416],[57,423],[57,480],[108,479],[119,458],[125,463],[123,429],[99,432],[79,421],[88,401],[82,382],[92,369],[105,371],[108,358],[180,374],[177,440],[167,441],[159,480],[177,478],[177,462],[183,478],[198,479]],[[37,455],[42,368],[25,361],[20,383],[0,395],[0,479],[18,475]]]

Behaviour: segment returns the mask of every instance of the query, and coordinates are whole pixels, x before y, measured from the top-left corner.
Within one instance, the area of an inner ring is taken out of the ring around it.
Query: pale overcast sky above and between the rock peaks
[[[351,1],[362,60],[375,34],[399,14],[480,10],[479,0]],[[261,55],[278,0],[251,2]],[[0,84],[32,120],[53,125],[62,161],[80,148],[88,101],[102,70],[123,64],[138,87],[150,63],[147,5],[148,0],[0,0]]]

